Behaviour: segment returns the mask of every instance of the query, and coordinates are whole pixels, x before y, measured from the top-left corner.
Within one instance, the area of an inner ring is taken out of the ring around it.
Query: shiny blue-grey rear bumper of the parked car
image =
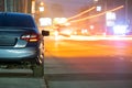
[[[38,55],[38,48],[0,48],[0,62],[1,61],[21,61],[36,58]]]

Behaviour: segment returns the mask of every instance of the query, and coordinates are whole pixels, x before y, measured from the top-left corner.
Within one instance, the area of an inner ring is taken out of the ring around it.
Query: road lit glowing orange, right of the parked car
[[[132,41],[121,38],[46,37],[48,87],[132,88]]]

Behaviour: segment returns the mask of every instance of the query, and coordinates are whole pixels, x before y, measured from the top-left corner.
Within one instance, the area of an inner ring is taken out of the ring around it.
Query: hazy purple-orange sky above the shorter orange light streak
[[[48,16],[69,18],[77,14],[91,0],[44,0]]]

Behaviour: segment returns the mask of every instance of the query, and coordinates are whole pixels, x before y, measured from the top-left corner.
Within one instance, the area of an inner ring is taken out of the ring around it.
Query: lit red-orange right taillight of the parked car
[[[40,35],[36,33],[25,33],[21,36],[21,40],[26,42],[37,42],[40,41]]]

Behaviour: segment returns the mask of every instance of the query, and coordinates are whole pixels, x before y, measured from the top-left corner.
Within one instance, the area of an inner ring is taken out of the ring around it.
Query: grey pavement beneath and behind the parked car
[[[26,75],[32,75],[32,70],[0,69],[0,88],[46,88],[43,77],[34,78]]]

